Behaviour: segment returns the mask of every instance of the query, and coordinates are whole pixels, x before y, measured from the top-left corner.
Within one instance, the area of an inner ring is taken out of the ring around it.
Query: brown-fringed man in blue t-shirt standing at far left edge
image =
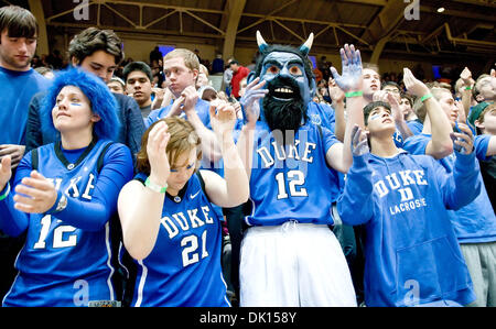
[[[37,24],[34,15],[17,7],[0,9],[0,158],[9,156],[17,168],[24,155],[24,132],[31,98],[45,90],[50,81],[31,68],[36,51]],[[9,238],[0,231],[0,297],[14,278],[13,262],[22,239]]]

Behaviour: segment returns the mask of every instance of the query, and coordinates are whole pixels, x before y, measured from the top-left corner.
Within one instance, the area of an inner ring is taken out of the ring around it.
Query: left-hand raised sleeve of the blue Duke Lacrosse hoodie
[[[337,199],[337,211],[348,226],[359,226],[373,218],[374,186],[368,155],[353,157],[344,191]]]

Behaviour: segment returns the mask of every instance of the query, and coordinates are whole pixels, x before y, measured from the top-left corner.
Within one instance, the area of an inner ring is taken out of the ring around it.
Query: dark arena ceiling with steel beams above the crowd
[[[301,44],[315,34],[313,52],[354,43],[371,57],[471,58],[494,63],[496,0],[21,0],[39,8],[52,29],[96,25],[143,39],[203,40],[225,56],[269,43]],[[79,7],[75,10],[77,6]],[[84,7],[87,6],[85,9]],[[444,8],[443,12],[438,12]],[[85,11],[86,10],[86,11]],[[39,13],[40,15],[40,13]]]

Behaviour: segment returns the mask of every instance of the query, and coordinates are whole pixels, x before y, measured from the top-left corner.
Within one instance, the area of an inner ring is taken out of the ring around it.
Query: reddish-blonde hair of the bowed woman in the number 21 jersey
[[[171,165],[171,167],[174,165],[183,165],[177,164],[179,157],[185,152],[191,152],[194,147],[200,146],[200,144],[202,143],[194,127],[184,119],[181,119],[179,117],[170,117],[154,122],[144,132],[143,138],[141,139],[141,150],[137,155],[137,168],[139,172],[145,175],[150,175],[151,171],[147,152],[148,138],[153,127],[162,121],[168,124],[168,132],[171,134],[171,139],[169,140],[168,146],[165,149],[165,153],[168,154],[169,164]],[[200,147],[197,152],[196,169],[200,167],[200,161],[202,160],[202,152]]]

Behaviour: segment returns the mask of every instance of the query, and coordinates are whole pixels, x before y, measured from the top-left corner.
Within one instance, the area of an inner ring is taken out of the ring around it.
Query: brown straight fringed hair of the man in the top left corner
[[[0,32],[7,30],[10,37],[36,37],[37,23],[34,15],[18,6],[0,8]]]

